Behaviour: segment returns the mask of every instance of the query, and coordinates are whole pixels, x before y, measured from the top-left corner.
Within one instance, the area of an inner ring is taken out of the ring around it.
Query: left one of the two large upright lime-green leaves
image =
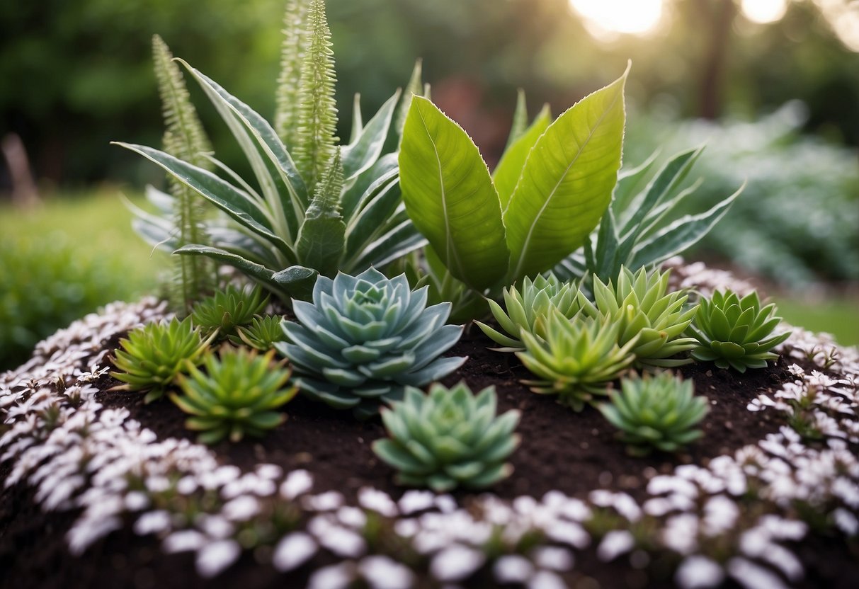
[[[501,204],[489,169],[460,125],[415,96],[399,152],[403,202],[450,273],[472,288],[507,273]]]

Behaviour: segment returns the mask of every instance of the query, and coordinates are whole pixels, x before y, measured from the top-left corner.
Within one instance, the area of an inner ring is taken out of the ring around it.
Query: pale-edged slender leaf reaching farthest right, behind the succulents
[[[637,246],[633,253],[632,268],[643,264],[659,264],[671,258],[679,252],[698,243],[710,229],[719,222],[730,209],[740,193],[746,187],[745,183],[740,189],[720,203],[716,203],[712,209],[698,215],[686,215],[671,223],[667,228],[654,234],[652,238]]]

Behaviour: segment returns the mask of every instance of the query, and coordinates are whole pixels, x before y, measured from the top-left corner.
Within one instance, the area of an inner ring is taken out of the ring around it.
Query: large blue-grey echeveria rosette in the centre
[[[303,394],[368,417],[405,386],[442,379],[466,361],[440,357],[462,334],[461,325],[444,325],[450,303],[426,303],[427,289],[412,292],[405,275],[320,276],[313,302],[294,301],[299,323],[284,321],[286,342],[275,347]]]

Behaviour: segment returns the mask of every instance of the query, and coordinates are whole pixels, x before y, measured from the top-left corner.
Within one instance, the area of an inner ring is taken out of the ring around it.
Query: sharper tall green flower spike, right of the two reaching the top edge
[[[295,164],[313,190],[334,156],[337,103],[334,100],[334,53],[325,2],[312,0],[308,8],[308,51],[302,60],[299,86]]]

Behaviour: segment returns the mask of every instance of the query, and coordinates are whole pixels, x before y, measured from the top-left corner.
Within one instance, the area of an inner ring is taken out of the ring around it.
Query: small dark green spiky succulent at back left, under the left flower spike
[[[194,305],[191,320],[205,333],[217,331],[217,337],[236,336],[241,325],[250,325],[253,316],[265,311],[268,296],[261,288],[250,290],[228,286]]]

